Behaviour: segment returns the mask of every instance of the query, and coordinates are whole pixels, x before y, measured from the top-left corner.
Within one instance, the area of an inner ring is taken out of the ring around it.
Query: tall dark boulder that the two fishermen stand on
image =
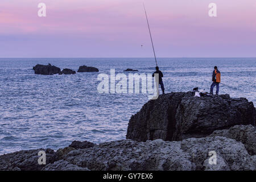
[[[214,130],[234,125],[255,124],[255,107],[246,98],[230,98],[228,94],[194,97],[193,92],[176,92],[150,100],[130,118],[127,139],[145,142],[200,138]]]

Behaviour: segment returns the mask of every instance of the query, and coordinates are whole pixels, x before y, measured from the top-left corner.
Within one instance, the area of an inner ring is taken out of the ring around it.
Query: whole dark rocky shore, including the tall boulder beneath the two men
[[[1,155],[0,170],[256,170],[255,107],[245,98],[164,94],[131,117],[126,137]]]

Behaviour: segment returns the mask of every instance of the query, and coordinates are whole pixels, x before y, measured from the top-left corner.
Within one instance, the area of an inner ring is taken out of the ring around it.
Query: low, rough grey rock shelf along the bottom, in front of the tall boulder
[[[241,142],[226,137],[174,142],[128,139],[93,146],[75,142],[73,146],[79,149],[46,150],[46,165],[38,164],[38,152],[42,149],[1,155],[0,170],[256,170],[256,155],[249,155]],[[211,152],[216,154],[216,163],[210,163]]]

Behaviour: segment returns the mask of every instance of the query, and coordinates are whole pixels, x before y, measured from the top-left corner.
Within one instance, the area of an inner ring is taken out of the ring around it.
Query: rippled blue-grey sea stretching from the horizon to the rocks
[[[98,73],[35,75],[33,66],[51,63],[75,71],[81,65]],[[209,92],[215,65],[221,72],[220,94],[245,97],[256,105],[256,58],[158,59],[168,92],[193,88]],[[0,59],[0,154],[35,148],[66,147],[73,140],[94,143],[126,138],[131,115],[148,101],[147,94],[100,94],[99,73],[127,68],[152,73],[152,58]],[[214,88],[215,92],[215,88]],[[161,93],[161,91],[160,91]]]

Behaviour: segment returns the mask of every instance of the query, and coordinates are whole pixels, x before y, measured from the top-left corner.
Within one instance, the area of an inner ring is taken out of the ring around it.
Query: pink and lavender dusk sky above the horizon
[[[255,0],[1,0],[0,57],[152,57],[143,2],[158,57],[256,57]]]

